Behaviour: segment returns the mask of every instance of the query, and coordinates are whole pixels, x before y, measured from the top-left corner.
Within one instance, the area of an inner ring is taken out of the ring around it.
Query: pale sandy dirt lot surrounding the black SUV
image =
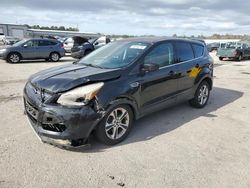
[[[206,108],[162,110],[123,143],[80,151],[40,143],[22,105],[31,74],[72,59],[0,61],[0,187],[250,187],[250,61],[215,60]]]

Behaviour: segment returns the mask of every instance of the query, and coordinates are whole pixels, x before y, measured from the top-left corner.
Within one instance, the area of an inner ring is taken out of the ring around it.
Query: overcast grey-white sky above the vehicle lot
[[[1,0],[0,23],[104,34],[250,34],[249,7],[248,0]]]

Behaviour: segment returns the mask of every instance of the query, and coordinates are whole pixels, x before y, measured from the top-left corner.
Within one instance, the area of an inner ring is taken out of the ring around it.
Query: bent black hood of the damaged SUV
[[[68,91],[88,82],[117,79],[119,69],[101,69],[82,64],[67,64],[38,72],[29,78],[32,85],[52,93]]]

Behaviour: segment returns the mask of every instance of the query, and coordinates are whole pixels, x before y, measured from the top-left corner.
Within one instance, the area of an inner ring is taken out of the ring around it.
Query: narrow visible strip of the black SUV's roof
[[[182,39],[182,38],[174,38],[174,37],[136,37],[136,38],[127,38],[119,40],[118,42],[145,42],[145,43],[158,43],[164,41],[180,41],[180,42],[192,42],[204,45],[203,42],[194,39]]]

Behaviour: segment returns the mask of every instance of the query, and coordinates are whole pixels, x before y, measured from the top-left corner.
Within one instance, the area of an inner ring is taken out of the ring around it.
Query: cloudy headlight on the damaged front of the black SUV
[[[104,85],[103,82],[78,87],[63,93],[57,100],[58,104],[66,106],[82,106],[93,99]]]

